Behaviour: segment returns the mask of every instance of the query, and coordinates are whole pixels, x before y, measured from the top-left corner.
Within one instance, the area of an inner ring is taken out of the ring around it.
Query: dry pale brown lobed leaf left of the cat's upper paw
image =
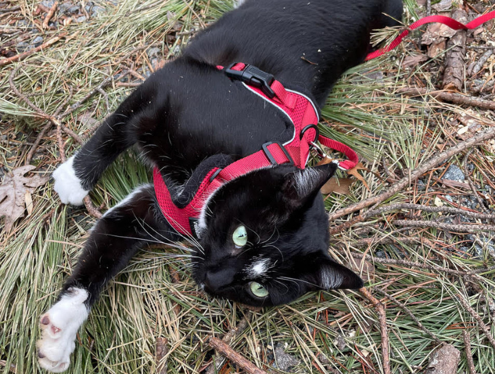
[[[50,177],[36,174],[26,178],[24,174],[35,169],[34,165],[25,165],[5,175],[0,186],[0,217],[5,217],[5,232],[12,229],[17,218],[24,215],[26,194],[32,194],[37,187],[47,183]],[[32,202],[31,202],[32,204]]]

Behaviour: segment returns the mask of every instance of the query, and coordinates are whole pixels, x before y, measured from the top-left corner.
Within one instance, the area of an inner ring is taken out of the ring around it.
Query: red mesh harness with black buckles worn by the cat
[[[223,69],[223,67],[218,68]],[[312,143],[316,140],[348,157],[349,160],[339,163],[340,168],[351,169],[358,163],[358,155],[347,145],[319,135],[316,126],[319,120],[318,111],[308,97],[296,91],[285,89],[283,84],[274,80],[272,75],[252,65],[236,63],[223,70],[231,78],[242,80],[246,89],[259,95],[287,115],[294,124],[294,135],[285,144],[278,141],[265,143],[258,152],[234,161],[223,169],[215,167],[210,170],[201,182],[195,196],[184,208],[178,208],[174,204],[162,174],[155,167],[153,183],[159,207],[168,223],[182,235],[193,234],[198,237],[197,219],[201,210],[208,198],[222,185],[234,178],[271,165],[291,163],[299,169],[304,169]]]

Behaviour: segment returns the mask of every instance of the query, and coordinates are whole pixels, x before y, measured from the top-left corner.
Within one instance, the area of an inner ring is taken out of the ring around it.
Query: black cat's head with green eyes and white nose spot
[[[195,281],[212,296],[253,306],[289,303],[309,291],[361,288],[327,252],[329,222],[320,187],[333,163],[276,166],[232,180],[201,217]]]

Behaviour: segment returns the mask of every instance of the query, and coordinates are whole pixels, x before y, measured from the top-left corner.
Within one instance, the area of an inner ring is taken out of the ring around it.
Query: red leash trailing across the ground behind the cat
[[[397,47],[397,45],[401,43],[402,39],[408,36],[408,34],[412,30],[415,30],[422,25],[426,25],[426,23],[439,22],[439,23],[443,23],[443,25],[447,25],[448,27],[454,30],[473,30],[476,29],[476,27],[478,27],[479,25],[483,25],[483,23],[491,19],[495,19],[495,10],[492,10],[492,12],[488,12],[486,14],[483,14],[482,16],[479,16],[478,18],[472,20],[470,23],[467,23],[467,25],[463,25],[462,23],[446,16],[427,16],[424,17],[423,19],[419,19],[415,23],[412,23],[412,25],[410,25],[407,28],[407,30],[401,32],[401,34],[399,34],[399,36],[397,36],[397,38],[395,38],[393,42],[387,45],[386,47],[371,52],[371,54],[366,56],[365,61],[371,60],[373,58],[377,58],[378,56],[382,56],[382,54],[386,54],[388,51],[391,51],[392,49]]]

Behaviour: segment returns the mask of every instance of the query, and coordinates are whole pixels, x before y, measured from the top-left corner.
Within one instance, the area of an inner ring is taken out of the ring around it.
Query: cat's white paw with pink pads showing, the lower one
[[[38,362],[43,369],[61,373],[69,367],[77,331],[89,314],[84,303],[87,297],[86,290],[69,288],[69,292],[41,316],[41,339],[36,342],[36,347]]]

